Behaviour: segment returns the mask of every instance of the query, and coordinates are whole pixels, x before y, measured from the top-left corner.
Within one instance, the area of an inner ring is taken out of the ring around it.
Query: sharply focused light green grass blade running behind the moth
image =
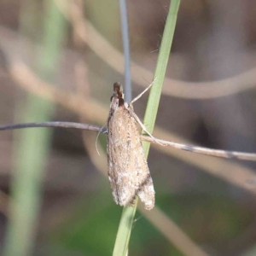
[[[160,45],[160,54],[156,64],[156,69],[154,73],[154,85],[150,90],[150,95],[148,97],[148,105],[144,117],[144,124],[146,125],[149,132],[152,133],[154,130],[154,122],[156,119],[157,109],[160,102],[161,87],[166,75],[166,67],[170,55],[170,50],[172,46],[172,38],[174,34],[174,29],[177,20],[177,11],[179,7],[179,0],[172,0],[170,4],[169,13],[167,15],[166,26]],[[145,154],[148,156],[149,143],[143,143],[143,149]],[[113,256],[125,256],[128,250],[128,245],[131,236],[131,228],[133,224],[133,219],[137,209],[137,204],[135,207],[124,207],[122,216],[119,223],[119,230],[117,233],[116,241],[113,249]]]

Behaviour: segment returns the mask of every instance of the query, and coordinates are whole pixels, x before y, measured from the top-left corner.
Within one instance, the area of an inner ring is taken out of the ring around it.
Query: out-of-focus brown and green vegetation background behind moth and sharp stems
[[[127,1],[132,95],[153,79],[169,1]],[[182,1],[154,136],[256,152],[256,3]],[[118,1],[0,1],[0,123],[106,125],[124,83]],[[143,119],[148,94],[134,104]],[[121,207],[106,137],[0,132],[0,253],[111,255]],[[156,207],[137,211],[131,255],[255,255],[255,164],[152,145]],[[176,229],[172,227],[174,225]],[[186,253],[187,252],[187,253]]]

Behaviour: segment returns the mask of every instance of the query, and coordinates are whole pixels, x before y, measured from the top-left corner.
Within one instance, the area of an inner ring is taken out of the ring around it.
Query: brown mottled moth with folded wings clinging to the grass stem
[[[145,209],[154,207],[154,186],[145,159],[137,120],[131,104],[125,102],[123,87],[113,84],[108,114],[108,179],[113,200],[125,207],[136,196]]]

